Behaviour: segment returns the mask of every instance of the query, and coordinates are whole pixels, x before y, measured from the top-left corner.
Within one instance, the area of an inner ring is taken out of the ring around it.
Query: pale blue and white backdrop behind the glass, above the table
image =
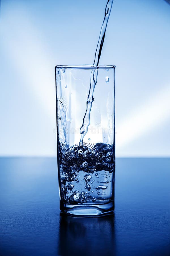
[[[55,65],[93,63],[106,3],[1,0],[1,156],[56,156]],[[116,156],[170,156],[169,31],[167,2],[114,0]]]

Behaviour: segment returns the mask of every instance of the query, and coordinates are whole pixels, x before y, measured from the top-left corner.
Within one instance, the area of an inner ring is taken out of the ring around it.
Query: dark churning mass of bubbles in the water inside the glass
[[[98,178],[98,173],[101,170],[112,173],[114,171],[115,163],[112,160],[113,147],[109,144],[97,143],[93,147],[86,145],[75,145],[67,150],[63,150],[61,145],[59,147],[59,166],[62,174],[61,190],[63,199],[67,203],[77,204],[86,203],[87,199],[91,198],[90,193],[85,191],[73,191],[75,185],[72,184],[78,180],[78,173],[84,172],[84,181],[86,191],[91,190],[90,181],[92,183],[92,175],[95,173]],[[101,181],[101,183],[109,183],[109,181]],[[107,186],[102,184],[95,187],[97,191],[107,189]],[[68,196],[72,193],[70,196]],[[92,193],[94,191],[91,191]],[[98,193],[99,194],[99,193]],[[93,202],[96,199],[93,198]]]

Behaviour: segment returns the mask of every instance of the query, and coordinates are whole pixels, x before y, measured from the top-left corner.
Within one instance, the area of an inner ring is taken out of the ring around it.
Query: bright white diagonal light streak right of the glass
[[[162,88],[147,102],[116,125],[116,149],[154,129],[170,117],[170,86]]]

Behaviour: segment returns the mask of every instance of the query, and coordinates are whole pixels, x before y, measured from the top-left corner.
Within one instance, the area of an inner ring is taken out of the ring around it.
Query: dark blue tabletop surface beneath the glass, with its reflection
[[[0,158],[0,255],[170,255],[170,159],[116,159],[114,215],[61,215],[56,158]]]

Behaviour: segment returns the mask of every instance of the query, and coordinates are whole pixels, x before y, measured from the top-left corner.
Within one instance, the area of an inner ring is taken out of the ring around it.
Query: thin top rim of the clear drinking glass
[[[56,65],[58,69],[115,69],[114,65]]]

